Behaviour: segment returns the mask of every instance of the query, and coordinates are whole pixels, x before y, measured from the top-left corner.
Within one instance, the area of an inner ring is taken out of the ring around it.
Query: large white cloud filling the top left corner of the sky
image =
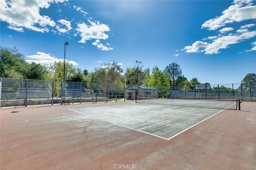
[[[7,22],[8,28],[16,31],[31,29],[48,32],[47,26],[54,27],[55,22],[48,16],[40,15],[41,8],[49,8],[51,3],[62,3],[67,0],[1,0],[0,21]]]

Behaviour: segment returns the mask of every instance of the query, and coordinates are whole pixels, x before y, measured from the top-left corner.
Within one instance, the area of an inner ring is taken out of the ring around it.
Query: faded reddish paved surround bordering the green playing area
[[[0,169],[256,169],[255,102],[169,141],[67,110],[112,104],[1,108]]]

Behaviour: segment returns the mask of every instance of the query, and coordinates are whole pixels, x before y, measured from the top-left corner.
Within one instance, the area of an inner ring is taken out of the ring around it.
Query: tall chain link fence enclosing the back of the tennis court
[[[0,80],[0,106],[125,101],[126,99],[133,99],[134,97],[132,96],[138,94],[136,92],[137,88],[131,90],[134,91],[134,93],[126,92],[128,86],[122,84],[62,82],[16,78],[0,78]],[[240,99],[242,101],[256,102],[256,83],[196,84],[195,86],[154,88],[157,89],[158,98],[201,100]]]

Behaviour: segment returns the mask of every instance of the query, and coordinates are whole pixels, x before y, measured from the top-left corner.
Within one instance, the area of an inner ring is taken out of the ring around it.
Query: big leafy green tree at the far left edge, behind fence
[[[18,47],[0,47],[0,77],[26,78],[28,63]]]

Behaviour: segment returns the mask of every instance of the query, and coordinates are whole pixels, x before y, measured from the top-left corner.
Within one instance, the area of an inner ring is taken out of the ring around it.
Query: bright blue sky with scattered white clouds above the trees
[[[0,45],[28,62],[66,61],[89,72],[115,61],[191,80],[240,83],[256,73],[256,1],[1,0]]]

